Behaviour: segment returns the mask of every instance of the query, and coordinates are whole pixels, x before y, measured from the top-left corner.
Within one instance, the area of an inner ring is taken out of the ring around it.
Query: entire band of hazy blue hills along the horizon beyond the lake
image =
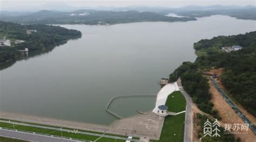
[[[252,5],[211,5],[185,6],[183,8],[168,8],[163,6],[125,6],[97,7],[93,9],[72,10],[74,7],[60,4],[50,6],[65,8],[59,10],[33,11],[0,11],[0,20],[23,24],[118,24],[131,22],[186,22],[195,21],[197,17],[211,15],[228,15],[239,19],[256,20],[256,7]],[[44,6],[43,6],[44,7]],[[74,8],[75,9],[75,8]],[[168,13],[176,13],[184,17],[167,17]]]

